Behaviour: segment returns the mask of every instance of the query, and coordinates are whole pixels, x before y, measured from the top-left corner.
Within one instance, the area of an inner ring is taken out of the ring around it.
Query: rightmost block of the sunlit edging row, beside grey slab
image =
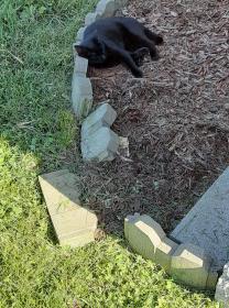
[[[187,286],[205,289],[209,271],[210,258],[198,246],[181,244],[172,256],[171,275]]]

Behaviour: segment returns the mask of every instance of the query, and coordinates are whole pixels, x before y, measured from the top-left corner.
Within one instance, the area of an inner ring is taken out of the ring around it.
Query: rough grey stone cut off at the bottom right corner
[[[229,263],[223,267],[223,273],[216,286],[215,299],[219,301],[222,307],[229,307]]]

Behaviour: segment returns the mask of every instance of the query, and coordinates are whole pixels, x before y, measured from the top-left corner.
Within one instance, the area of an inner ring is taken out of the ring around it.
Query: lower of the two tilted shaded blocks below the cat
[[[81,141],[81,154],[86,162],[112,161],[119,147],[119,136],[109,128],[101,128]]]

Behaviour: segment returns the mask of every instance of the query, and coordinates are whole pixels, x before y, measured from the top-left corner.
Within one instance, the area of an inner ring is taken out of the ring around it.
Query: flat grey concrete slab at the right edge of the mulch
[[[203,248],[215,270],[229,260],[229,167],[206,191],[171,234]]]

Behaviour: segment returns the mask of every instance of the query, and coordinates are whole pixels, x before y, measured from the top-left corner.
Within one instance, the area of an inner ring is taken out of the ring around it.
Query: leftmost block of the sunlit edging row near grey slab
[[[156,248],[165,238],[161,226],[146,215],[128,216],[124,220],[124,235],[137,253],[152,261],[155,260]]]

